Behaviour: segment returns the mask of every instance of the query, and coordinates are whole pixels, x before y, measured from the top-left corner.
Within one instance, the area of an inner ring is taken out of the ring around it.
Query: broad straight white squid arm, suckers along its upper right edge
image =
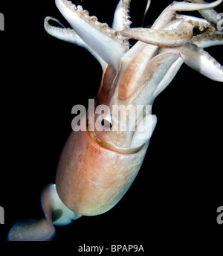
[[[127,40],[106,23],[97,22],[97,17],[89,16],[82,7],[76,7],[70,1],[56,0],[56,6],[88,47],[118,70],[120,57],[128,51]]]

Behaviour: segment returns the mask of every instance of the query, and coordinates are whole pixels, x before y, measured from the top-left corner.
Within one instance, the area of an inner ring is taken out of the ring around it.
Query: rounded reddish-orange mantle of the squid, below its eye
[[[71,211],[97,215],[123,197],[140,170],[148,144],[123,154],[101,147],[88,131],[71,132],[56,173],[56,191]]]

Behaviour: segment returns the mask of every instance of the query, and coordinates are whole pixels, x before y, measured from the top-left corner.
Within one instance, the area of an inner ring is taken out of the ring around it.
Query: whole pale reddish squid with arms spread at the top
[[[207,78],[223,82],[222,65],[204,51],[223,44],[219,13],[214,10],[222,1],[174,1],[150,28],[132,27],[130,0],[118,2],[112,28],[80,5],[55,1],[71,28],[48,16],[45,31],[90,51],[103,75],[96,99],[72,124],[56,170],[56,184],[42,191],[44,217],[19,221],[10,229],[8,240],[53,240],[55,225],[103,214],[120,201],[149,147],[157,123],[152,114],[155,97],[171,83],[181,65],[186,63]],[[145,15],[149,5],[148,0]],[[203,18],[181,11],[198,11]],[[129,39],[135,39],[133,46]],[[120,124],[122,120],[126,123]]]

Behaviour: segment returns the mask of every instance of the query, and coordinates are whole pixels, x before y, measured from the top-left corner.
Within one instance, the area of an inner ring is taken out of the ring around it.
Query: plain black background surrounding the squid
[[[171,2],[152,1],[146,24]],[[75,4],[111,25],[117,1]],[[146,1],[132,0],[132,27],[141,26],[145,6]],[[45,32],[45,16],[68,26],[54,0],[8,1],[0,4],[0,12],[5,18],[0,33],[0,205],[5,211],[0,243],[23,250],[24,243],[6,242],[7,232],[19,220],[42,217],[39,196],[45,185],[54,183],[71,132],[71,108],[88,106],[102,71],[85,49]],[[223,63],[222,46],[207,51]],[[152,249],[180,255],[185,250],[220,249],[223,225],[216,223],[216,209],[223,205],[222,92],[222,83],[184,64],[155,100],[152,110],[158,124],[128,193],[106,214],[57,227],[54,241],[45,246],[72,250],[72,255],[84,255],[77,252],[84,243],[142,244],[144,255]]]

